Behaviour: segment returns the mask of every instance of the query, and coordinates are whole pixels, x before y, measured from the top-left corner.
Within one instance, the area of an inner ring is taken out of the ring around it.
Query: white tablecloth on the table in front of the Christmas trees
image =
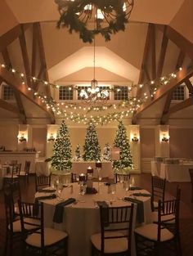
[[[87,173],[87,168],[91,166],[94,170],[94,177],[98,176],[96,171],[95,162],[73,162],[72,164],[72,173]],[[114,177],[112,163],[111,162],[102,162],[101,168],[101,177]]]

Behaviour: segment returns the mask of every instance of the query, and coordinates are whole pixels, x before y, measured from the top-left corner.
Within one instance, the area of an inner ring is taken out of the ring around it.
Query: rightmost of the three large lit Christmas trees
[[[128,141],[127,131],[122,122],[119,122],[118,130],[116,131],[116,137],[114,139],[114,146],[119,147],[120,155],[119,160],[115,160],[113,168],[115,171],[119,169],[132,168],[132,155],[130,151],[130,145]]]

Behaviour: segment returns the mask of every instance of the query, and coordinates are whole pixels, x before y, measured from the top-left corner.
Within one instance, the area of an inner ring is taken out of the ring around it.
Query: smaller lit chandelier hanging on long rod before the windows
[[[91,87],[88,89],[82,89],[79,93],[79,96],[82,100],[87,101],[88,103],[95,103],[96,101],[106,101],[109,98],[108,90],[101,90],[98,86],[98,82],[95,79],[95,63],[96,63],[96,51],[95,51],[95,38],[94,38],[94,58],[93,58],[93,79],[91,81]]]

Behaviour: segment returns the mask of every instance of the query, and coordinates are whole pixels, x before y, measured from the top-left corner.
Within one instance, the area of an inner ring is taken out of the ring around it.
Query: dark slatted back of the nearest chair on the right
[[[177,197],[174,200],[159,200],[158,202],[158,241],[160,241],[161,230],[168,228],[174,236],[179,233],[181,190],[177,189]],[[167,217],[167,218],[165,218]]]

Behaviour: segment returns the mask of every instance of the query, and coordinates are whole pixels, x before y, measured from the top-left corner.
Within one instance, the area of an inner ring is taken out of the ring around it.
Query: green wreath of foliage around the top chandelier
[[[70,34],[73,31],[79,33],[79,38],[83,40],[83,43],[92,43],[96,34],[101,34],[105,41],[110,41],[110,35],[116,34],[119,30],[124,30],[126,23],[128,23],[126,12],[123,11],[123,0],[76,0],[74,2],[55,0],[55,2],[59,6],[58,10],[61,14],[60,20],[57,21],[57,28],[67,27]],[[79,20],[78,13],[84,11],[84,7],[89,4],[94,5],[105,13],[114,12],[114,20],[110,20],[109,26],[88,29],[87,23]]]

